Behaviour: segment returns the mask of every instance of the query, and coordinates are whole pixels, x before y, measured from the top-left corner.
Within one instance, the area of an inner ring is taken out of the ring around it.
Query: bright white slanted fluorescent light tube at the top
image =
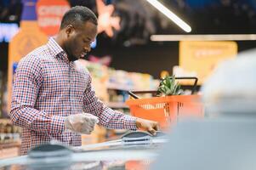
[[[185,21],[181,20],[176,14],[166,8],[162,3],[159,3],[157,0],[146,0],[148,3],[151,3],[152,6],[157,8],[162,14],[165,14],[168,19],[173,20],[175,24],[177,24],[182,30],[186,32],[191,32],[191,26],[185,23]]]

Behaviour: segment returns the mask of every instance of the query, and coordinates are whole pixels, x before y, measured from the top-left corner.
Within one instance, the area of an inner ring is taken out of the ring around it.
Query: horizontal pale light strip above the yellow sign
[[[256,34],[152,35],[153,42],[177,41],[255,41]]]

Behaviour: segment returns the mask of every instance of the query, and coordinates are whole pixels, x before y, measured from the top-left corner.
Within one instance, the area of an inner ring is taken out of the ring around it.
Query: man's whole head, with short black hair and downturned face
[[[87,54],[96,35],[97,17],[90,9],[76,6],[64,14],[58,37],[70,61]]]

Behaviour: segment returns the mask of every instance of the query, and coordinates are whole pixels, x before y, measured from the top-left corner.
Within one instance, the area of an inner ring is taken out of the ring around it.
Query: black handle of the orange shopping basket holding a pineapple
[[[196,84],[198,82],[198,78],[197,77],[175,77],[175,79],[179,79],[179,80],[185,80],[185,79],[190,79],[190,80],[195,80],[193,87],[191,89],[191,94],[194,94],[196,91]],[[148,90],[148,91],[128,91],[128,94],[130,96],[132,96],[134,99],[139,99],[139,96],[137,96],[136,94],[157,94],[156,90]]]

